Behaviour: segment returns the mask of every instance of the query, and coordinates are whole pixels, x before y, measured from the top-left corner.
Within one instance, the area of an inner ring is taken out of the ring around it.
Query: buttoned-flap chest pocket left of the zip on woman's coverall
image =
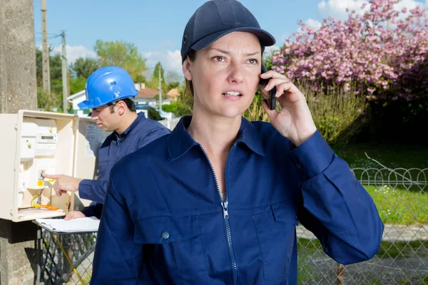
[[[145,259],[156,271],[169,275],[176,284],[193,284],[194,279],[207,278],[198,216],[150,217],[141,219],[135,227],[133,241],[144,244]]]

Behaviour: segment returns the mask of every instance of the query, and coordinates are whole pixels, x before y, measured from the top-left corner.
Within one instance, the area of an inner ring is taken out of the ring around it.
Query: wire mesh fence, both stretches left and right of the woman
[[[352,172],[373,197],[385,224],[381,248],[370,261],[342,266],[322,251],[312,232],[299,225],[298,284],[428,284],[428,169],[354,168]],[[96,233],[58,239],[42,230],[42,281],[88,284]]]

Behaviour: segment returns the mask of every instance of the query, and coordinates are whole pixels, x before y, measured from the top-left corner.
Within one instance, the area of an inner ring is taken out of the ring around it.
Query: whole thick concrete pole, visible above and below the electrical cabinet
[[[33,1],[0,0],[0,113],[20,109],[37,109]],[[1,285],[34,284],[36,229],[0,219]]]

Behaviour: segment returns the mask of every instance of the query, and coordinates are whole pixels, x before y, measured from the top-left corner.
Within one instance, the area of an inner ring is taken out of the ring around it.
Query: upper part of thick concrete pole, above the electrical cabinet
[[[37,109],[33,2],[0,0],[0,113]]]

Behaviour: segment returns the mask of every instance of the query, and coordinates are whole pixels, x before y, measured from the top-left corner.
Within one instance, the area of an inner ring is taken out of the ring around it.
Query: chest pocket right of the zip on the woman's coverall
[[[266,280],[286,281],[295,244],[297,217],[288,202],[271,205],[271,212],[253,214]]]

